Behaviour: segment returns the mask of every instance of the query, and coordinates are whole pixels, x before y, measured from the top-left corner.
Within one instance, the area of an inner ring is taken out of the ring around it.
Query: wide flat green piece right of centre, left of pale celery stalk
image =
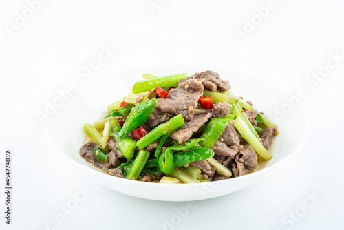
[[[206,129],[201,136],[204,140],[200,142],[200,145],[212,148],[216,140],[219,139],[222,132],[224,132],[224,129],[228,123],[233,120],[233,118],[233,115],[228,115],[224,118],[211,118],[211,121],[206,125]]]

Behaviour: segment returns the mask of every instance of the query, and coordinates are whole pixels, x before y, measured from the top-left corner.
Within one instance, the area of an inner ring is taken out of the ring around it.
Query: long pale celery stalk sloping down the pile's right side
[[[259,140],[255,137],[254,134],[252,134],[250,129],[248,129],[246,123],[240,117],[237,117],[237,119],[235,119],[234,125],[241,136],[252,146],[252,149],[255,149],[259,156],[264,158],[264,160],[271,159],[271,155],[269,154],[268,150],[266,150],[264,146],[261,145]]]

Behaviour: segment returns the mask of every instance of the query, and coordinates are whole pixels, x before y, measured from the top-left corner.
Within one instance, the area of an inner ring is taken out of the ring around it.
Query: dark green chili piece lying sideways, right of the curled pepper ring
[[[190,151],[182,151],[174,154],[173,163],[175,167],[182,167],[197,160],[205,160],[214,156],[213,149],[195,146]]]

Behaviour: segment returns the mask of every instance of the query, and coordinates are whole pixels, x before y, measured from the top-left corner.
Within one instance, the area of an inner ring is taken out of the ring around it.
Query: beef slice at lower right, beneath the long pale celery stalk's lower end
[[[232,164],[233,176],[244,176],[258,165],[258,155],[250,145],[244,148],[235,156],[235,163]]]

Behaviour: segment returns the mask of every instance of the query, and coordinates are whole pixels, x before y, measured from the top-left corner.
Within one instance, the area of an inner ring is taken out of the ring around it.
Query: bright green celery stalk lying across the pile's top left
[[[153,79],[138,81],[133,85],[133,94],[149,91],[156,87],[170,87],[178,83],[178,81],[185,79],[188,74],[174,74],[168,76],[158,76]]]

